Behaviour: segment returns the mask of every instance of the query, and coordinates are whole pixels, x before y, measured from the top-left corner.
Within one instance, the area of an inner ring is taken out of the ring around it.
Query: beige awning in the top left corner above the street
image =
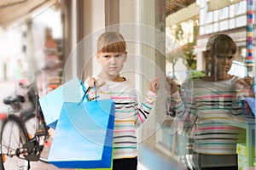
[[[19,24],[34,12],[57,3],[57,0],[1,0],[0,26],[3,29]]]

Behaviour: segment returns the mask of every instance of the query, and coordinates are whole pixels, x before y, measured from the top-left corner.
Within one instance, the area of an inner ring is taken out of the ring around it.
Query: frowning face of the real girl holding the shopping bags
[[[127,53],[98,53],[96,59],[102,66],[102,72],[108,77],[116,77],[123,69]]]

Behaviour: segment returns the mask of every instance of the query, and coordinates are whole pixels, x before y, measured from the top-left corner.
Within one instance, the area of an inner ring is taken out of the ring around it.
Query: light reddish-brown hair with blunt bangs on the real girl
[[[97,41],[97,53],[126,52],[125,38],[115,31],[104,32]]]

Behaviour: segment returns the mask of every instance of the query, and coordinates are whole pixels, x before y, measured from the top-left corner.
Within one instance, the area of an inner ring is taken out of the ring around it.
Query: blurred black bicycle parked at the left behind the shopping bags
[[[38,101],[36,81],[27,86],[20,84],[21,88],[27,88],[27,102],[30,107],[22,107],[26,103],[23,95],[3,99],[3,103],[9,105],[9,109],[0,135],[2,170],[29,170],[30,161],[47,162],[40,156],[49,133]]]

